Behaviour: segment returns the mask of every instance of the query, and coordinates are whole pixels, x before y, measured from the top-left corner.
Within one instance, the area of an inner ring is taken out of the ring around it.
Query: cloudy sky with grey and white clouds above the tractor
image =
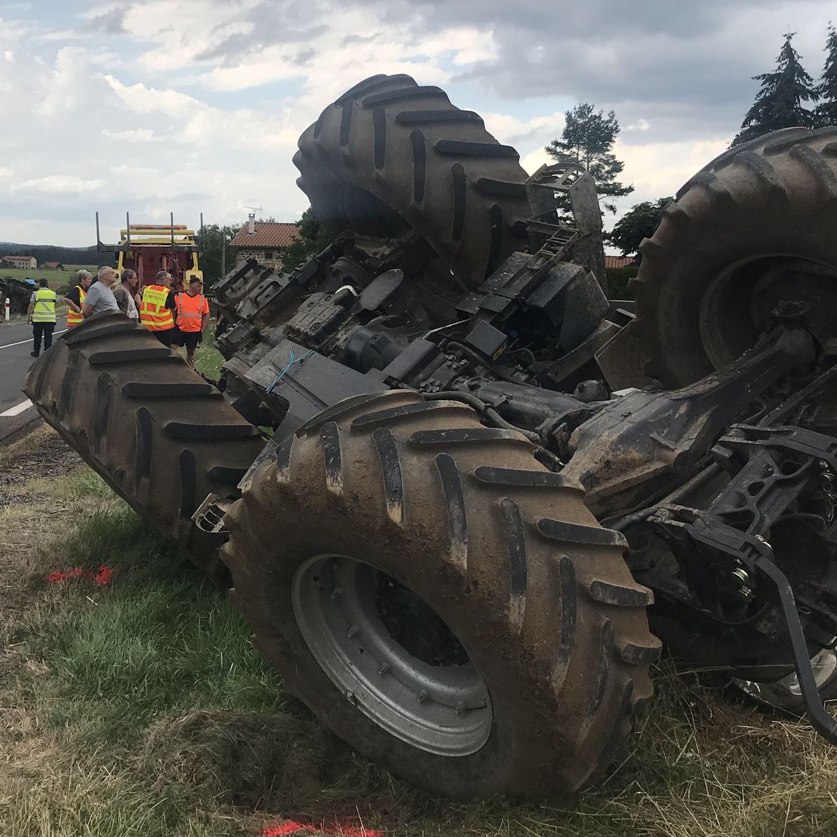
[[[723,151],[783,33],[814,77],[828,0],[0,0],[0,241],[95,244],[138,221],[307,208],[306,126],[377,73],[439,85],[532,172],[578,101],[615,110],[634,193]],[[613,223],[608,218],[606,223]]]

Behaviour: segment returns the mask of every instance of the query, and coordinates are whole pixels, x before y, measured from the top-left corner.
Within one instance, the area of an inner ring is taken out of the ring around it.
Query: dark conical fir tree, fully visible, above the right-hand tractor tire
[[[741,131],[732,141],[733,146],[754,140],[779,128],[814,125],[814,111],[802,104],[816,101],[814,80],[799,63],[799,54],[791,46],[795,32],[785,34],[785,42],[776,59],[773,73],[754,75],[762,83],[756,100],[741,124]]]

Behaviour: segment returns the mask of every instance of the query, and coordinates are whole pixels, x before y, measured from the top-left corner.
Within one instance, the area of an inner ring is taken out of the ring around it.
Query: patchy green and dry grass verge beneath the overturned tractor
[[[14,492],[0,496],[0,834],[220,837],[285,818],[403,837],[837,833],[831,748],[670,663],[602,788],[545,804],[430,798],[324,732],[238,614],[90,470]],[[108,586],[45,581],[102,564]]]

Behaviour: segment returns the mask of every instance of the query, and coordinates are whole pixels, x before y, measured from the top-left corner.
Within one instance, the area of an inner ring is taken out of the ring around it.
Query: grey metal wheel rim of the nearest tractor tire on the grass
[[[408,588],[362,561],[316,555],[297,569],[300,633],[343,696],[379,727],[425,752],[468,756],[493,713],[465,648]]]

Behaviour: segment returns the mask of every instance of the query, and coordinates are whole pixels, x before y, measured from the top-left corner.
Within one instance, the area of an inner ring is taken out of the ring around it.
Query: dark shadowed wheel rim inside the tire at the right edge
[[[783,301],[809,304],[804,316],[820,342],[837,334],[837,269],[813,259],[762,255],[721,270],[701,299],[701,343],[716,368],[755,345]]]

